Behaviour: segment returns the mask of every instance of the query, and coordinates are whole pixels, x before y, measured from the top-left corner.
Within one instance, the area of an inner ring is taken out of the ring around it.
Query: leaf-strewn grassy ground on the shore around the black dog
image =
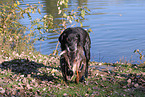
[[[39,58],[38,58],[39,57]],[[145,66],[90,62],[85,83],[62,80],[59,56],[24,53],[0,64],[0,96],[144,97]]]

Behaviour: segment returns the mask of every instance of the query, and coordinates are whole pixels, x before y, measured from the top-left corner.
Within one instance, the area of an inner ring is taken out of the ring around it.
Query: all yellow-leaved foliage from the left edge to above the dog
[[[84,16],[88,13],[89,9],[87,7],[78,7],[77,10],[69,12],[63,9],[64,6],[67,7],[67,4],[68,0],[58,0],[57,2],[58,14],[61,16],[59,23],[54,23],[52,15],[45,15],[41,19],[32,19],[30,14],[36,11],[41,14],[39,7],[43,7],[43,5],[26,4],[27,8],[22,9],[19,7],[19,1],[1,4],[0,55],[10,57],[14,51],[19,55],[22,52],[34,51],[33,43],[49,39],[44,37],[43,34],[49,32],[61,34],[67,26],[74,26],[77,23],[83,26],[81,21],[84,20]],[[30,28],[19,22],[20,19],[25,18],[24,14],[27,14],[31,20]],[[29,33],[26,34],[28,31]],[[53,54],[56,54],[57,46]]]

